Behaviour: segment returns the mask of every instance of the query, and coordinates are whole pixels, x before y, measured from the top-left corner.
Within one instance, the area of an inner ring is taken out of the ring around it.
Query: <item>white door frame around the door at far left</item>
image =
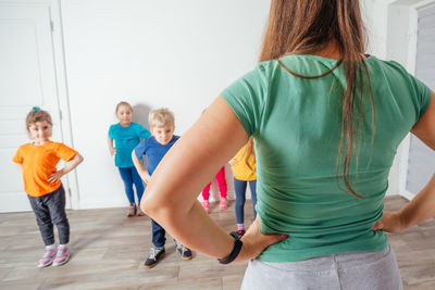
[[[66,78],[61,0],[0,0],[0,3],[14,5],[23,4],[26,7],[44,7],[49,9],[49,14],[51,18],[51,37],[53,46],[55,86],[58,92],[58,103],[60,110],[59,112],[61,114],[59,118],[61,123],[61,141],[66,146],[74,148],[69,102],[69,87]],[[71,204],[66,204],[66,207],[71,207],[73,210],[79,209],[79,190],[76,172],[73,171],[69,173],[65,178],[65,192],[66,194],[69,194],[69,200],[71,202]]]

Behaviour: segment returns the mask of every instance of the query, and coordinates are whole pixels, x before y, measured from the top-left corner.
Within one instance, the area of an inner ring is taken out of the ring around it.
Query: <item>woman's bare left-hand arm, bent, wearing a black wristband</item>
[[[206,214],[197,194],[247,141],[240,121],[219,97],[160,162],[144,193],[141,209],[178,242],[209,256],[227,256],[234,239]],[[283,238],[262,235],[257,220],[244,236],[236,261],[253,259]]]

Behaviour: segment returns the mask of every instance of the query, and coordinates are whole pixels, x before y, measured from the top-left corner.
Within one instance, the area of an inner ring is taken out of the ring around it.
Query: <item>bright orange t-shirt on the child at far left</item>
[[[23,166],[24,190],[37,198],[61,186],[61,180],[50,184],[48,178],[58,171],[55,165],[61,159],[69,162],[75,154],[77,151],[58,142],[49,141],[41,146],[26,143],[18,148],[12,161]]]

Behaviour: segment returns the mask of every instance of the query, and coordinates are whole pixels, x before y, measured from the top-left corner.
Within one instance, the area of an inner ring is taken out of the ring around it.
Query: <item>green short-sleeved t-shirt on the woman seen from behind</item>
[[[281,60],[287,68],[306,76],[320,75],[336,64],[315,55]],[[269,247],[260,261],[295,262],[385,249],[385,234],[371,227],[382,217],[396,150],[425,112],[431,92],[396,62],[369,56],[365,63],[375,126],[365,91],[366,117],[360,123],[363,134],[355,137],[350,167],[352,188],[365,199],[337,186],[340,96],[346,87],[343,65],[325,77],[304,79],[286,72],[277,61],[263,62],[222,92],[254,139],[256,209],[261,231],[289,235]],[[343,175],[338,175],[338,182],[346,188]]]

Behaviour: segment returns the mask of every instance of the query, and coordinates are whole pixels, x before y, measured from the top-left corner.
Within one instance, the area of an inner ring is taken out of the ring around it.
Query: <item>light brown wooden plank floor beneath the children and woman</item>
[[[247,202],[247,220],[252,205]],[[386,207],[405,199],[388,198]],[[234,203],[211,216],[234,230]],[[148,217],[124,217],[126,209],[69,211],[71,261],[60,267],[36,268],[44,245],[33,213],[0,214],[0,289],[238,289],[246,264],[219,265],[194,254],[183,261],[169,237],[166,256],[152,269],[142,268],[151,243]],[[405,289],[435,289],[435,220],[390,236]]]

